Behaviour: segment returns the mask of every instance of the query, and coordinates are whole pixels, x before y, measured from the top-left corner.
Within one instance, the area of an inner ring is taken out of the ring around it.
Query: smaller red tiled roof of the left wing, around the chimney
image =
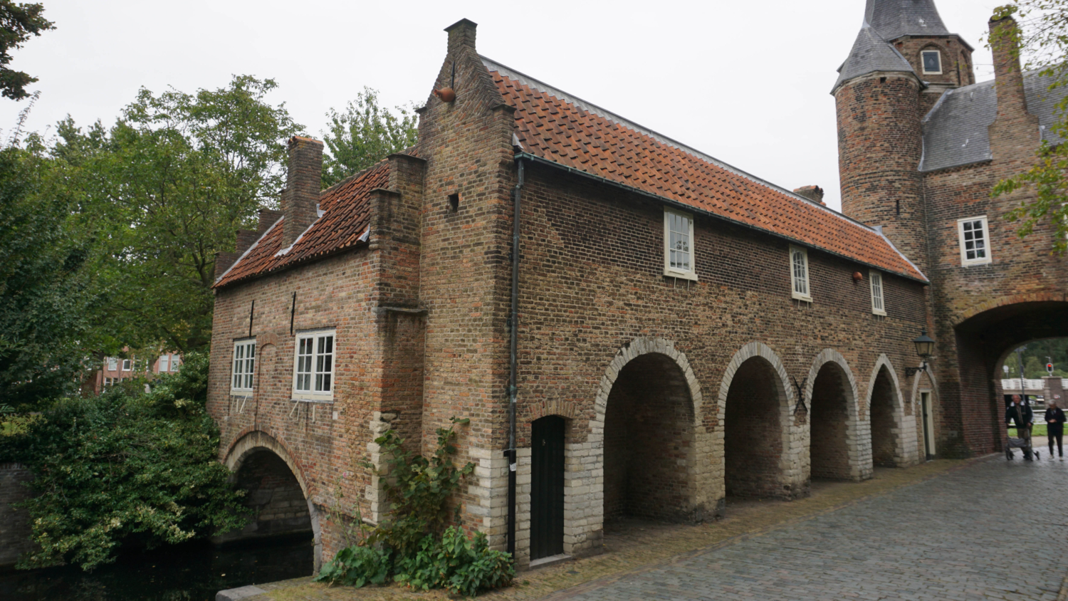
[[[324,190],[319,196],[321,217],[289,249],[282,248],[283,217],[219,278],[215,287],[264,275],[366,241],[363,235],[371,223],[368,192],[387,188],[389,176],[389,162],[382,160]]]

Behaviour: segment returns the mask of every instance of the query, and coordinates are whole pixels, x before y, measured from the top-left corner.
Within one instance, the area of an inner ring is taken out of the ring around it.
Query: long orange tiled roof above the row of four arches
[[[875,230],[483,58],[524,153],[926,282]]]

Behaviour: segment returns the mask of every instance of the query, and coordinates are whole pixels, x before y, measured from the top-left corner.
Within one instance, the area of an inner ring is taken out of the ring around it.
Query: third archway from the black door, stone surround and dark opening
[[[853,370],[841,352],[827,348],[816,355],[805,379],[804,399],[808,428],[803,446],[808,449],[808,473],[853,481],[870,478],[870,456],[865,457],[870,441],[861,427],[864,406],[860,404]],[[824,410],[833,410],[836,415],[823,420],[817,413]]]

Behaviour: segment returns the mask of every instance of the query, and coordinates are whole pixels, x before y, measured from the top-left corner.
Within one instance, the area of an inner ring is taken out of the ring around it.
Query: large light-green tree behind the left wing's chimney
[[[99,321],[125,345],[187,352],[210,341],[216,253],[277,206],[285,141],[301,130],[267,101],[276,88],[235,76],[195,94],[142,89],[111,128],[59,124],[51,192],[100,248]]]

